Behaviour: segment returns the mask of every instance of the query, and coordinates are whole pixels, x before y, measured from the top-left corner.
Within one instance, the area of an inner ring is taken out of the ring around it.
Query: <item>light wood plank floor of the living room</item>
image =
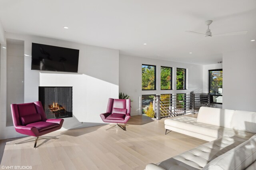
[[[127,131],[110,125],[52,132],[58,139],[14,145],[31,137],[0,140],[0,166],[32,166],[32,170],[144,170],[206,143],[177,132],[165,135],[164,119],[133,116]]]

